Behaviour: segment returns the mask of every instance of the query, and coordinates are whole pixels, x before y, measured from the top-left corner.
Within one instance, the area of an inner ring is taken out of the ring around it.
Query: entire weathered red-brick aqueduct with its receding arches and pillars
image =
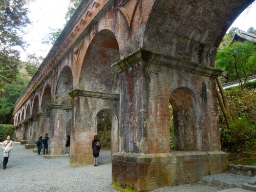
[[[227,167],[217,48],[251,0],[84,0],[15,104],[16,139],[48,132],[50,155],[92,164],[97,113],[112,117],[112,183],[137,191]],[[169,109],[175,150],[170,151]]]

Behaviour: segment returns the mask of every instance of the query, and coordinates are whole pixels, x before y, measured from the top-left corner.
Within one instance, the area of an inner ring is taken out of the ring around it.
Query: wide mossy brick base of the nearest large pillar
[[[227,171],[221,151],[174,151],[165,154],[116,153],[112,156],[112,184],[137,191],[180,185]]]

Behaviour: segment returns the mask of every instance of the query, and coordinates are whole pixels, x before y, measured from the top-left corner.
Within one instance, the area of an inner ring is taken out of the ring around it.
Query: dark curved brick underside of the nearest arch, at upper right
[[[252,2],[155,1],[145,28],[143,48],[214,67],[223,36]]]

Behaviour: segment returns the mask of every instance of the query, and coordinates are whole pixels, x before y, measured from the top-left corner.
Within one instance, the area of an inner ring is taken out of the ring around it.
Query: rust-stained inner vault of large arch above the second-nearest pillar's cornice
[[[119,93],[119,81],[112,63],[120,59],[118,42],[110,30],[98,32],[83,59],[78,88],[86,91]]]

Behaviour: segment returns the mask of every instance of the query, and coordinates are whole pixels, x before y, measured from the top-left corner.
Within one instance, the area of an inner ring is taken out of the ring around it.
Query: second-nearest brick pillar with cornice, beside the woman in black
[[[91,91],[74,90],[69,93],[73,98],[72,128],[70,144],[70,165],[78,166],[93,164],[92,140],[97,134],[97,113],[106,109],[111,111],[112,152],[119,152],[119,94],[100,93]]]

